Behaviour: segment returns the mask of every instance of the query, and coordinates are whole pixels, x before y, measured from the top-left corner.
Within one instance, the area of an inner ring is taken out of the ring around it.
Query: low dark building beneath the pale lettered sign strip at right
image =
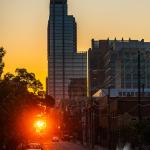
[[[136,96],[93,97],[94,105],[90,102],[82,111],[83,143],[116,149],[119,142],[131,142],[138,146],[139,101]],[[108,104],[109,101],[109,104]],[[142,136],[150,132],[150,97],[141,97],[141,116],[143,125]],[[91,121],[91,112],[93,118]],[[92,123],[92,127],[91,127]],[[135,126],[134,126],[135,125]],[[147,133],[146,133],[147,132]],[[146,135],[147,134],[147,135]],[[143,139],[143,145],[149,144],[149,138]],[[125,142],[125,143],[124,143]]]

